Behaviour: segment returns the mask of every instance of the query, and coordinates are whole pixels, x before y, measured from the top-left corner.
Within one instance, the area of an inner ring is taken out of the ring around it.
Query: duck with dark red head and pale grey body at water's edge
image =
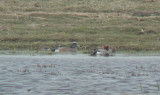
[[[116,48],[113,46],[105,45],[104,48],[94,49],[91,56],[112,56],[115,53]]]

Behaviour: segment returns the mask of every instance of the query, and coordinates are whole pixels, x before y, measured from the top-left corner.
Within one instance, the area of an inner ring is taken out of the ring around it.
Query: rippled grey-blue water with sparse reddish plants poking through
[[[159,56],[0,55],[0,95],[160,95]]]

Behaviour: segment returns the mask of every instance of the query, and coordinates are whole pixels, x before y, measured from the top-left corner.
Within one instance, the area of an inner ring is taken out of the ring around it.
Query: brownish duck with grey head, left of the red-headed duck
[[[76,53],[78,50],[78,44],[77,42],[72,42],[70,47],[61,47],[60,45],[54,49],[52,49],[52,52],[55,53]]]

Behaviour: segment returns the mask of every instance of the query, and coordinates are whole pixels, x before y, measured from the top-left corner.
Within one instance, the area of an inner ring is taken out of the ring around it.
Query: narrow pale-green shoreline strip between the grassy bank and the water
[[[18,51],[12,51],[12,50],[0,50],[0,55],[27,55],[27,56],[56,56],[56,55],[87,55],[90,56],[90,53],[83,53],[83,51],[78,51],[76,54],[72,53],[54,53],[52,51],[28,51],[28,50],[18,50]],[[117,51],[116,53],[113,53],[113,56],[160,56],[159,51]]]

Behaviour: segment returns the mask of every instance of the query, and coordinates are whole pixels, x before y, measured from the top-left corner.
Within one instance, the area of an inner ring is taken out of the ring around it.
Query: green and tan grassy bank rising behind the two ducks
[[[28,3],[29,2],[29,3]],[[159,0],[0,0],[0,49],[42,50],[77,41],[87,51],[160,50]]]

